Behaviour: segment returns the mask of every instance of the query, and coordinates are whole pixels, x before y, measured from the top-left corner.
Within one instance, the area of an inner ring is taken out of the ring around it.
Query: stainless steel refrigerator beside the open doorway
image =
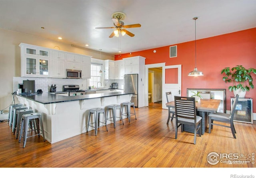
[[[131,102],[134,102],[134,106],[138,107],[138,74],[124,75],[124,92],[134,93]]]

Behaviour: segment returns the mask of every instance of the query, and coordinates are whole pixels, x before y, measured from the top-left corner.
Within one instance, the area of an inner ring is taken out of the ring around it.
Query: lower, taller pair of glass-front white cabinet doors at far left
[[[50,59],[23,56],[21,76],[50,76]]]

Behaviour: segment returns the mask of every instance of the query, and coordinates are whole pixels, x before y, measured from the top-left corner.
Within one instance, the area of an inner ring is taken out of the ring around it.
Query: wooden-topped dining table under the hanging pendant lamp
[[[202,117],[202,135],[208,128],[209,113],[216,113],[221,100],[200,99],[196,101],[196,115]],[[174,101],[166,103],[166,107],[175,108]],[[184,131],[194,133],[194,126],[184,125]]]

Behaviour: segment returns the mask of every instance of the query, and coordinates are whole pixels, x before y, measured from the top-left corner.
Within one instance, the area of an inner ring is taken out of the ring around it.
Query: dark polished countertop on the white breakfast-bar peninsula
[[[104,98],[104,97],[126,95],[126,94],[133,94],[133,93],[112,92],[112,93],[86,94],[86,95],[80,95],[80,96],[62,96],[62,95],[55,95],[50,93],[42,93],[42,94],[35,94],[35,95],[17,94],[17,96],[21,96],[23,98],[27,98],[29,100],[33,100],[35,102],[42,103],[42,104],[51,104],[51,103],[70,102],[70,101],[78,101],[78,100],[88,100],[93,98]]]

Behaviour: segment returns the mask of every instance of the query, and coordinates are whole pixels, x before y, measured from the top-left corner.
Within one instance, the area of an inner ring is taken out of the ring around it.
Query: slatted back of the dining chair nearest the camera
[[[194,97],[174,96],[176,117],[196,119],[196,103]]]

